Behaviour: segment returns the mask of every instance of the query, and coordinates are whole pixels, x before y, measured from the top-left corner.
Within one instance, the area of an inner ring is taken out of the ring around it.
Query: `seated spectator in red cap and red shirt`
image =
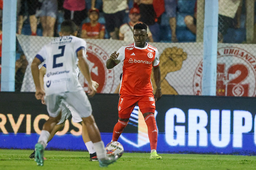
[[[88,17],[90,22],[82,25],[82,38],[103,39],[105,35],[105,26],[98,22],[100,12],[98,9],[90,9]]]

